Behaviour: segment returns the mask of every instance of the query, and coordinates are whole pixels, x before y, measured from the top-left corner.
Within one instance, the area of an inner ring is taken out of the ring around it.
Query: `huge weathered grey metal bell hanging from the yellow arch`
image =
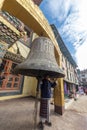
[[[58,67],[55,60],[54,45],[46,37],[38,37],[32,42],[29,56],[16,66],[15,72],[33,77],[46,75],[54,78],[64,77],[62,69]]]

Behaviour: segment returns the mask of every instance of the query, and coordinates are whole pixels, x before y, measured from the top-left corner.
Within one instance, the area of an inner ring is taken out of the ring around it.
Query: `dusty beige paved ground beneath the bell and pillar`
[[[53,109],[51,105],[52,127],[45,126],[44,130],[87,130],[87,96],[80,96],[63,116]],[[33,120],[34,99],[0,101],[0,130],[34,130]]]

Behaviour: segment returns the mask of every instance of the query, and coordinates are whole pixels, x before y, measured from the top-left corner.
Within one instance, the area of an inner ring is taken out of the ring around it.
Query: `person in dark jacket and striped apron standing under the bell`
[[[39,128],[43,129],[44,125],[51,126],[50,122],[50,98],[51,98],[51,87],[55,87],[57,84],[49,76],[46,76],[41,83],[41,99],[40,99],[40,122],[38,124]]]

